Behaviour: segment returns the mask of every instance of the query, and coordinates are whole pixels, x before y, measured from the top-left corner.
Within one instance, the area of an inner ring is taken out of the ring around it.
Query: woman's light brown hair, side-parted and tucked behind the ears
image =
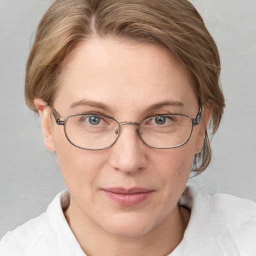
[[[202,17],[187,0],[55,0],[43,15],[31,48],[25,75],[25,100],[52,103],[61,65],[81,42],[91,37],[151,42],[167,48],[186,66],[198,101],[211,109],[202,149],[192,171],[210,162],[207,129],[219,126],[224,97],[219,84],[220,59]]]

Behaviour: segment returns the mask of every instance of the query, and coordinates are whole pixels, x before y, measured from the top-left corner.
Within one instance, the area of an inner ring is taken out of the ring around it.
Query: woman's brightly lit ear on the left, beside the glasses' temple
[[[47,107],[47,102],[41,98],[35,98],[34,104],[41,117],[42,130],[44,135],[44,144],[51,150],[55,151],[53,135],[52,135],[52,122],[50,118],[50,108]]]

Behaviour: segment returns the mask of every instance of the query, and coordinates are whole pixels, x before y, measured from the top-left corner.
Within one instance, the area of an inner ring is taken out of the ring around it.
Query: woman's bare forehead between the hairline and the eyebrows
[[[63,64],[56,103],[84,99],[139,110],[164,100],[196,102],[185,66],[166,49],[113,38],[80,43]]]

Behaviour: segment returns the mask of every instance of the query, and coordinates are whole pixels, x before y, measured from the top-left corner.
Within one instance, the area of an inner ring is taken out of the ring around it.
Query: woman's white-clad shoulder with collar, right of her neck
[[[211,196],[187,187],[179,204],[191,209],[183,241],[186,247],[205,252],[210,248],[217,255],[256,255],[254,201],[229,194]]]

